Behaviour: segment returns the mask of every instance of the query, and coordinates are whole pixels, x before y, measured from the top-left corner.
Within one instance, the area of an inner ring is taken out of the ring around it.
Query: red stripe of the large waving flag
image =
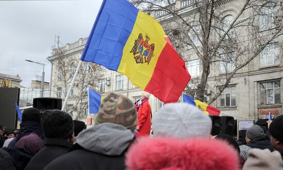
[[[185,62],[175,51],[168,38],[145,91],[164,103],[177,102],[190,80]],[[153,56],[154,57],[154,56]]]

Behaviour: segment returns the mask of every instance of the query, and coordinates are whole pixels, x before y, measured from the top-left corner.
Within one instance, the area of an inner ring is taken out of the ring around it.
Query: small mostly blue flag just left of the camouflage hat
[[[99,93],[95,92],[94,90],[90,89],[89,92],[89,113],[90,114],[97,114],[100,103],[104,99]]]

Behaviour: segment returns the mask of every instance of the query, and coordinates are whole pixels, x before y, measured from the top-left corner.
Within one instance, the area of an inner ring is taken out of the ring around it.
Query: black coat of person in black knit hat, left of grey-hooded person
[[[42,170],[47,166],[51,161],[56,158],[66,154],[68,149],[73,144],[64,140],[57,138],[47,138],[45,147],[40,150],[37,155],[33,156],[26,166],[26,170]]]

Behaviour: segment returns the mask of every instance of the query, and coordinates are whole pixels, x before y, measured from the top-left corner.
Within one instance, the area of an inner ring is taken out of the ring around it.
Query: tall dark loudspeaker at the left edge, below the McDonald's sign
[[[0,87],[0,123],[7,129],[16,128],[20,88]]]

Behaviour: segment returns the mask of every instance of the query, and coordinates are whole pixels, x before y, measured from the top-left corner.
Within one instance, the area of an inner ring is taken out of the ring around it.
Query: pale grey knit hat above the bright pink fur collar
[[[200,109],[187,103],[164,105],[152,119],[154,136],[176,138],[205,137],[211,131],[211,119]]]

